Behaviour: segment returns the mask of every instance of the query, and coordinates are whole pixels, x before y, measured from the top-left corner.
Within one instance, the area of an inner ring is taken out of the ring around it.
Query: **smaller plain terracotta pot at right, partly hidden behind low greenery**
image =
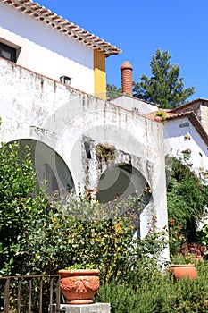
[[[175,279],[196,279],[197,277],[196,266],[194,264],[171,264],[169,272]]]

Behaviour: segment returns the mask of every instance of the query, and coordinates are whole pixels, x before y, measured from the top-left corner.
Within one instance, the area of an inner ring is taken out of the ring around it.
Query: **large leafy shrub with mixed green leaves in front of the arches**
[[[28,148],[2,145],[0,161],[0,275],[55,274],[88,263],[103,283],[122,275],[135,247],[135,199],[125,202],[126,215],[119,214],[122,202],[103,207],[72,191],[54,202],[37,189]]]

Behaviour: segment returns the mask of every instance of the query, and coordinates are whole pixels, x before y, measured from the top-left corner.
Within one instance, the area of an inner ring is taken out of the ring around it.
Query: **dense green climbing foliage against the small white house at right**
[[[174,252],[183,242],[196,242],[196,225],[207,205],[208,186],[176,157],[171,157],[170,171],[167,201],[171,252]]]

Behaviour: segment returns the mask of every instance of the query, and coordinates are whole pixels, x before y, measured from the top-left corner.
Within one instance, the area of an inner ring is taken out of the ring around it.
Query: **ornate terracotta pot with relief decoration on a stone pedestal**
[[[93,297],[100,285],[99,273],[99,269],[59,270],[60,288],[66,303],[93,303]]]

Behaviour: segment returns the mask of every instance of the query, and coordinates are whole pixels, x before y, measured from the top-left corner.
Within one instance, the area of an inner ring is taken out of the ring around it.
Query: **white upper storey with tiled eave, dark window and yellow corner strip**
[[[105,97],[105,58],[120,52],[30,0],[0,1],[0,56],[30,71]]]

